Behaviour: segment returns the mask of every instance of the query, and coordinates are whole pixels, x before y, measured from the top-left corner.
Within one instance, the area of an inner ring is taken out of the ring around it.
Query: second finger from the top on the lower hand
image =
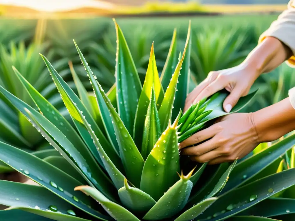
[[[201,156],[209,151],[212,151],[219,147],[219,143],[216,142],[216,139],[210,139],[202,144],[197,146],[187,147],[181,150],[182,155],[189,156]]]

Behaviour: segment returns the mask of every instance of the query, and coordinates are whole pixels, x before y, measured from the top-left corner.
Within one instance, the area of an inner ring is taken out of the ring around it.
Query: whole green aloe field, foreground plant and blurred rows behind
[[[183,112],[212,70],[240,63],[277,15],[0,23],[2,221],[295,220],[295,134],[201,164],[179,143],[225,116],[221,90]],[[74,40],[74,41],[73,41]],[[288,96],[261,75],[234,112]]]

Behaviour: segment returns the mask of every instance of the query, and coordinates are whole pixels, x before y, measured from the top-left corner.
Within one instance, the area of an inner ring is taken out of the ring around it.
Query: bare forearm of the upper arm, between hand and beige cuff
[[[292,51],[280,40],[267,37],[255,47],[242,65],[252,70],[257,78],[260,74],[270,72],[291,57]]]

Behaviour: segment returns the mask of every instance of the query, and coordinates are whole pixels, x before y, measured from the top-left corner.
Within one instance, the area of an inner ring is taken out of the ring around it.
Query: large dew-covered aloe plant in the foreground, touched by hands
[[[188,93],[190,26],[178,61],[172,41],[163,72],[167,76],[161,79],[152,45],[141,85],[124,35],[115,24],[116,83],[107,94],[76,43],[94,90],[92,98],[85,95],[73,68],[79,96],[41,55],[72,124],[17,69],[22,88],[38,110],[0,86],[3,97],[58,153],[44,158],[0,141],[0,160],[39,184],[0,180],[0,204],[9,206],[0,211],[1,220],[235,220],[240,218],[236,214],[295,184],[294,169],[271,175],[264,170],[291,149],[294,135],[239,164],[236,160],[218,166],[191,165],[181,157],[179,142],[227,114],[222,109],[227,92],[201,100],[181,114]],[[232,111],[254,95],[243,97]],[[259,176],[263,178],[255,179]],[[281,209],[272,215],[286,213]],[[242,219],[255,217],[249,212]]]

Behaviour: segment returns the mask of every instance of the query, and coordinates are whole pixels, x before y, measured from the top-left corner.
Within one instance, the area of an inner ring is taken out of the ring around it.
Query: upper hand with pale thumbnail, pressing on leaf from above
[[[228,69],[211,71],[207,78],[188,95],[183,111],[199,100],[225,88],[230,92],[223,103],[223,109],[228,113],[237,104],[240,97],[248,94],[258,76],[255,68],[243,63]]]

